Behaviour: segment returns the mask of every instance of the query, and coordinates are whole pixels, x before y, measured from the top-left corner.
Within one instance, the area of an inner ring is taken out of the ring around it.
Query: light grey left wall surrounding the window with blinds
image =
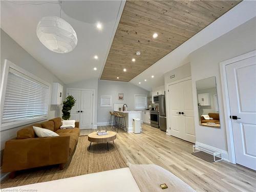
[[[49,82],[51,86],[53,82],[58,82],[62,84],[62,86],[65,86],[62,81],[60,81],[54,74],[52,74],[39,62],[37,62],[37,60],[35,60],[28,52],[26,52],[22,47],[20,47],[9,35],[7,35],[1,29],[1,77],[3,75],[5,59],[10,60],[15,65],[27,70],[28,72],[41,78],[42,80]],[[65,87],[63,89],[65,90]],[[49,108],[48,119],[61,116],[60,105],[49,105],[49,106],[50,108]],[[1,150],[3,150],[5,146],[5,142],[7,140],[16,137],[16,132],[20,128],[21,127],[14,127],[12,129],[1,131]]]

